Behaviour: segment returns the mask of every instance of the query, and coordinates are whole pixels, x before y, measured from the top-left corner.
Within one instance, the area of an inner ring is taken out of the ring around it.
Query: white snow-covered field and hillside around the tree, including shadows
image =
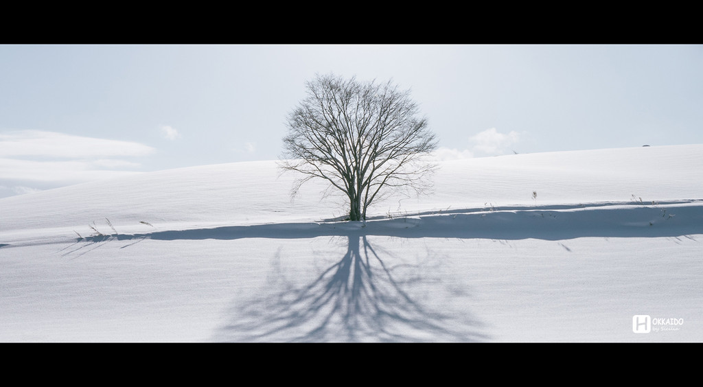
[[[276,162],[0,199],[0,341],[703,341],[703,145],[440,165],[365,224]]]

